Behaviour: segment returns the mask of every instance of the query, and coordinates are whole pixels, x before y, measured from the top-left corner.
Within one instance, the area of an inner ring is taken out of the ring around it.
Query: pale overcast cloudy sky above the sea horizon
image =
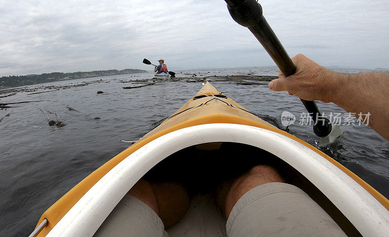
[[[290,56],[389,68],[389,0],[260,0]],[[224,0],[0,0],[0,76],[275,65]]]

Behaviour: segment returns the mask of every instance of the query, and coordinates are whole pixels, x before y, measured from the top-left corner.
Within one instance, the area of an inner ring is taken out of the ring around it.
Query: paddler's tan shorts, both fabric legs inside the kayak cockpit
[[[330,216],[300,188],[284,183],[257,186],[232,208],[228,237],[346,237]],[[126,195],[95,237],[168,237],[158,215]]]

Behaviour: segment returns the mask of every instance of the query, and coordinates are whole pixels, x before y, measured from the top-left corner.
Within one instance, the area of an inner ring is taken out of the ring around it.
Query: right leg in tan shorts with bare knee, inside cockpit
[[[283,182],[276,169],[256,166],[222,188],[228,236],[346,236],[305,192]]]

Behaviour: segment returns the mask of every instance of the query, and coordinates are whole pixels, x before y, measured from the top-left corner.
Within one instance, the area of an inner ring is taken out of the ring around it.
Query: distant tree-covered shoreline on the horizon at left
[[[24,76],[8,76],[0,78],[0,89],[8,89],[23,85],[37,85],[48,82],[68,81],[83,78],[103,77],[103,76],[115,76],[133,73],[147,72],[141,69],[111,69],[100,71],[78,71],[78,72],[52,72],[43,74],[30,74]]]

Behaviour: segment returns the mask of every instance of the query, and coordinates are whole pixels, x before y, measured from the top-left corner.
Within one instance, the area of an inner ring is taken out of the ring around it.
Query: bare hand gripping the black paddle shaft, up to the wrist
[[[279,78],[271,81],[269,88],[287,91],[289,95],[307,101],[331,102],[336,89],[333,73],[302,54],[293,57],[292,61],[296,65],[296,73],[285,78],[279,71]]]

